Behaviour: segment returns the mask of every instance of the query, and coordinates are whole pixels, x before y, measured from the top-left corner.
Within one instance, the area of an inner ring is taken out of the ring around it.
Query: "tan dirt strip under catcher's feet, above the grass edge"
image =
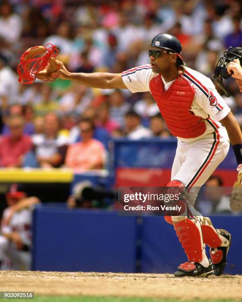
[[[0,291],[40,295],[242,299],[242,276],[175,278],[170,274],[0,271]]]

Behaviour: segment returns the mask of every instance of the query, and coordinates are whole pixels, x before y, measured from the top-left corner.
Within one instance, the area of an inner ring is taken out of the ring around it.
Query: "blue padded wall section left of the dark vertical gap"
[[[135,271],[135,217],[40,206],[33,218],[34,270]]]

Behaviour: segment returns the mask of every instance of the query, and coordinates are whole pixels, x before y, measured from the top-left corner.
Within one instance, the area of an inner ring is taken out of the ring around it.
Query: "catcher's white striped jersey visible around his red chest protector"
[[[123,72],[122,80],[131,92],[145,92],[150,91],[150,81],[156,76],[157,74],[152,71],[151,65],[143,65]],[[203,137],[207,133],[214,132],[215,125],[217,128],[221,127],[218,121],[230,112],[230,108],[219,95],[210,78],[188,67],[185,67],[183,76],[190,82],[195,90],[191,111],[204,119],[209,117],[209,119],[205,121],[206,131],[202,134],[201,137]],[[164,90],[167,90],[173,82],[166,82],[163,77],[162,81],[164,83]],[[198,137],[192,139],[178,137],[178,140],[184,142],[191,142],[197,139]]]

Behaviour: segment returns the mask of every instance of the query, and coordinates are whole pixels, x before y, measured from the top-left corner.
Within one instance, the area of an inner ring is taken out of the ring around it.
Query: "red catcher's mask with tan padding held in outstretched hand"
[[[44,81],[53,82],[58,76],[51,76],[51,73],[59,69],[59,65],[55,60],[55,56],[59,53],[56,46],[47,43],[44,46],[34,46],[27,49],[20,58],[20,63],[17,67],[19,79],[22,84],[32,84],[37,74],[50,67],[50,75],[41,77]]]

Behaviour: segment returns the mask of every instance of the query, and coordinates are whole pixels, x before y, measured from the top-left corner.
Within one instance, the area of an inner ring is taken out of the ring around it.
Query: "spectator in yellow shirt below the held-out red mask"
[[[59,105],[54,101],[53,91],[50,85],[43,85],[41,90],[41,101],[34,105],[36,115],[44,115],[59,111]]]

